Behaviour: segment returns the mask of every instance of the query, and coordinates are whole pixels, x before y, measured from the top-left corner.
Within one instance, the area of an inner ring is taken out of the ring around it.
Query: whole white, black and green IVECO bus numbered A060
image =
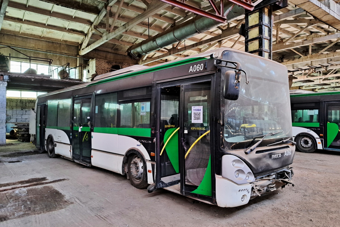
[[[220,207],[291,184],[287,69],[220,48],[38,97],[36,146]]]

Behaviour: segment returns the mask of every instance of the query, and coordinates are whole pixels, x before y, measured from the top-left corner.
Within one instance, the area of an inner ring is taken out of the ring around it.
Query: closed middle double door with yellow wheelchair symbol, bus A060
[[[75,162],[91,164],[91,97],[74,99],[73,102],[73,152]]]

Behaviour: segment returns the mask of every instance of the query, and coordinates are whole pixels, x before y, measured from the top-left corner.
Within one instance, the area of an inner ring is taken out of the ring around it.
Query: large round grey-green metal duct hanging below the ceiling
[[[224,9],[228,9],[234,4],[230,1],[226,2],[227,3],[224,5]],[[235,5],[231,12],[227,14],[226,22],[235,20],[239,17],[242,17],[243,15],[244,8]],[[180,42],[221,25],[223,25],[223,23],[216,20],[203,16],[197,16],[151,38],[145,39],[136,45],[132,45],[126,52],[131,59],[140,59],[141,56],[145,54],[159,50],[176,42]]]

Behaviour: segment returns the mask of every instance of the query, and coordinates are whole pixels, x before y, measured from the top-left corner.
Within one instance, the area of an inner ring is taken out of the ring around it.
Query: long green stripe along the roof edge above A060
[[[178,61],[178,62],[173,62],[173,63],[169,63],[169,64],[165,64],[165,65],[150,67],[150,68],[146,68],[146,69],[143,69],[141,71],[138,71],[138,72],[130,72],[128,74],[124,74],[124,75],[121,75],[121,76],[115,76],[114,78],[108,78],[108,79],[101,80],[101,81],[98,81],[98,82],[95,82],[95,83],[91,83],[91,84],[87,85],[87,87],[102,84],[102,83],[107,83],[107,82],[111,82],[111,81],[115,81],[115,80],[120,80],[120,79],[124,79],[124,78],[134,77],[134,76],[138,76],[138,75],[142,75],[142,74],[147,74],[147,73],[150,73],[150,72],[156,72],[156,71],[159,71],[159,70],[168,69],[168,68],[172,68],[172,67],[176,67],[176,66],[186,65],[186,64],[190,64],[190,63],[194,63],[194,62],[199,62],[199,61],[202,61],[202,60],[207,60],[207,58],[203,58],[203,57],[189,58],[189,59],[185,59],[185,60]]]

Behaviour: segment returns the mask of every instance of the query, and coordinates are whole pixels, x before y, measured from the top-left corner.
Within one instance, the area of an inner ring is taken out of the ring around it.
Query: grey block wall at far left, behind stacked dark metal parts
[[[6,98],[6,132],[17,122],[30,122],[30,110],[36,99]]]

